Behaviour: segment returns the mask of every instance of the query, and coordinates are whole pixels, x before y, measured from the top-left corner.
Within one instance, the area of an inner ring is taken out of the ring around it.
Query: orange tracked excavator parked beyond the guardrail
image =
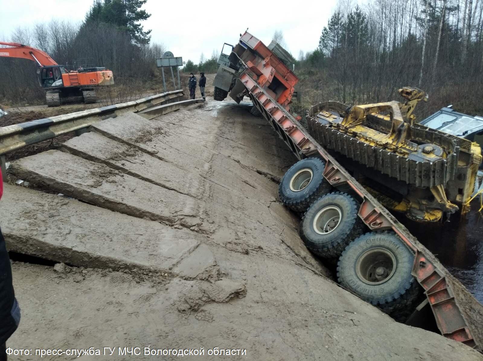
[[[113,72],[95,67],[93,58],[76,60],[75,70],[67,70],[67,66],[57,64],[42,50],[17,42],[0,42],[0,45],[8,46],[0,48],[0,56],[29,59],[38,64],[39,83],[47,91],[49,107],[64,104],[72,97],[82,97],[86,104],[96,103],[94,87],[114,84]]]

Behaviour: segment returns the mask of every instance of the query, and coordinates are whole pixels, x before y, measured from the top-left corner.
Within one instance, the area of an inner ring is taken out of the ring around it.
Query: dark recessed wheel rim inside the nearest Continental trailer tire
[[[393,252],[385,248],[372,248],[357,259],[355,272],[362,282],[379,285],[393,277],[397,266],[398,262]]]

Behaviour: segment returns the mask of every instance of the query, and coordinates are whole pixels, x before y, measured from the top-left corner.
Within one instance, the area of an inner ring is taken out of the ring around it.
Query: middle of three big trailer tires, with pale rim
[[[339,257],[364,230],[358,210],[359,203],[346,193],[329,193],[317,199],[300,222],[305,246],[324,258]]]

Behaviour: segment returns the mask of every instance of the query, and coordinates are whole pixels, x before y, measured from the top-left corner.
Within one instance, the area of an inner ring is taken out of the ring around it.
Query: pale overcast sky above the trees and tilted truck
[[[32,26],[52,18],[81,22],[91,0],[0,0],[0,41],[9,41],[18,26]],[[224,42],[235,44],[246,28],[266,44],[275,30],[284,33],[287,50],[298,57],[299,50],[313,50],[322,28],[336,6],[336,0],[274,1],[161,1],[148,0],[143,6],[151,17],[142,22],[152,29],[151,41],[162,42],[174,56],[199,62],[203,52],[212,55]]]

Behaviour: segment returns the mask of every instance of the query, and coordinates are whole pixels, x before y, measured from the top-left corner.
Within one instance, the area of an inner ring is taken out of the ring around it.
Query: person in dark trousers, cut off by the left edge
[[[0,198],[2,194],[3,181],[0,170]],[[7,360],[6,342],[17,329],[19,321],[20,307],[15,300],[12,267],[0,229],[0,361]]]

